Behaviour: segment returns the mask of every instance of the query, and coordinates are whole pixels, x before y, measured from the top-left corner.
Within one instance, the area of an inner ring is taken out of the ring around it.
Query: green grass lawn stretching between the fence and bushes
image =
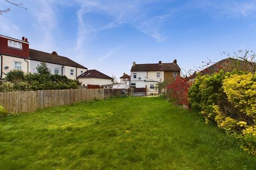
[[[0,169],[256,169],[256,157],[163,98],[118,98],[0,120]]]

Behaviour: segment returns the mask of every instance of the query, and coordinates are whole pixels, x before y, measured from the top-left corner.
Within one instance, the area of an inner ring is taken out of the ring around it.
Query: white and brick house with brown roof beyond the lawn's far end
[[[154,64],[136,64],[132,63],[131,68],[131,87],[135,89],[145,88],[147,95],[158,94],[156,84],[166,81],[171,83],[172,80],[179,76],[180,67],[177,60],[172,63],[162,63],[159,61]]]

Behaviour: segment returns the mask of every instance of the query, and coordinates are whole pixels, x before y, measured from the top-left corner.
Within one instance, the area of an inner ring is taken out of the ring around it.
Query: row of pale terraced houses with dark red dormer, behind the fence
[[[77,79],[78,75],[87,71],[85,66],[60,56],[57,52],[45,53],[30,49],[25,37],[19,40],[0,35],[0,57],[0,79],[4,78],[4,73],[13,69],[34,73],[41,62],[47,64],[52,74],[66,75],[69,79]]]

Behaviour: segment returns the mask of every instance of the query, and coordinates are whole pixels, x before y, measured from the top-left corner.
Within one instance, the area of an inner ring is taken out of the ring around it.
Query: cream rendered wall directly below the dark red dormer
[[[12,56],[7,56],[7,55],[2,55],[2,56],[3,56],[3,64],[1,63],[1,65],[3,66],[2,78],[5,77],[4,73],[14,70],[14,62],[21,62],[21,70],[25,73],[29,72],[30,60],[27,60],[26,58],[12,57]],[[9,69],[4,69],[5,66],[8,66]]]

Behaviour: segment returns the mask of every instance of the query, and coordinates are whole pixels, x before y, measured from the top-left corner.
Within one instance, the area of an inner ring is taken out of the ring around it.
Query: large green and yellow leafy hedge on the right
[[[256,75],[245,72],[198,75],[188,92],[191,108],[215,122],[256,155]]]

